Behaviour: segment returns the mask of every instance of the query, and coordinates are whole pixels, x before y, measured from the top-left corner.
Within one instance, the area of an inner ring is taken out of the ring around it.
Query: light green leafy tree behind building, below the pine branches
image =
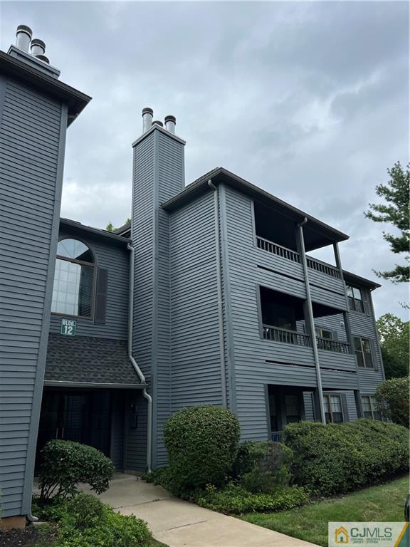
[[[393,313],[385,313],[377,320],[384,372],[387,378],[409,375],[410,322],[401,321]]]

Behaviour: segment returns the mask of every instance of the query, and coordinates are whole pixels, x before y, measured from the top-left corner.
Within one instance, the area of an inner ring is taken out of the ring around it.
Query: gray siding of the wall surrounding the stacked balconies
[[[231,187],[224,187],[222,192],[226,196],[236,408],[243,438],[265,439],[268,430],[265,385],[315,387],[317,381],[311,348],[263,340],[258,287],[262,285],[305,298],[305,282],[300,264],[256,247],[251,199]],[[345,309],[342,281],[312,269],[309,275],[312,300],[341,311]],[[312,283],[317,287],[312,287]],[[327,321],[328,318],[318,318],[317,325],[326,326]],[[329,325],[337,330],[338,339],[342,341],[345,333],[340,321],[342,314],[335,314]],[[359,322],[355,328],[367,331],[365,325],[366,321]],[[369,328],[370,325],[371,321]],[[358,375],[354,356],[320,351],[320,363],[324,389],[345,390],[349,395],[349,419],[355,419],[353,390],[358,388]],[[306,415],[312,417],[312,410],[307,410]]]

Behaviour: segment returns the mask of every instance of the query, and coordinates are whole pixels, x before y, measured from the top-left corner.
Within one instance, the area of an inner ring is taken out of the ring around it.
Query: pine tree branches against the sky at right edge
[[[406,169],[396,162],[388,169],[389,181],[387,184],[378,184],[376,194],[387,203],[369,204],[369,211],[364,214],[374,222],[389,222],[399,230],[399,235],[383,232],[383,238],[390,244],[391,251],[396,254],[406,253],[405,261],[409,263],[410,243],[410,209],[409,209],[409,179],[410,164]],[[393,283],[409,281],[409,264],[395,264],[389,271],[377,271],[377,276],[389,279]]]

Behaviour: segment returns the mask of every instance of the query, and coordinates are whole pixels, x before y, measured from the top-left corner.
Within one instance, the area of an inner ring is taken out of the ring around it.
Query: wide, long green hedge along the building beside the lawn
[[[357,420],[345,424],[288,424],[294,481],[312,494],[332,495],[407,472],[409,432],[396,424]]]

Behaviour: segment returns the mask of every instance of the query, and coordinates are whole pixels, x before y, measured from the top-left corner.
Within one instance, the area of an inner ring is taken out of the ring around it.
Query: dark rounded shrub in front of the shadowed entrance
[[[40,499],[66,499],[78,492],[79,482],[98,494],[107,490],[114,466],[99,450],[72,441],[50,441],[41,451]]]

